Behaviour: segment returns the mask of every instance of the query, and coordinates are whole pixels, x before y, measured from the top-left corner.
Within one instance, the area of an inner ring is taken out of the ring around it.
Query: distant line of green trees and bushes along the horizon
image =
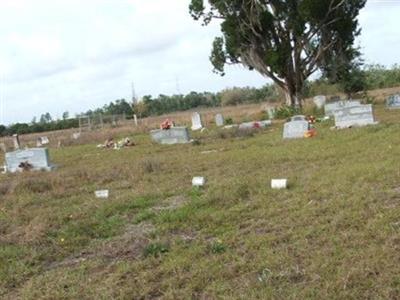
[[[382,65],[367,65],[360,73],[354,75],[350,81],[354,81],[358,90],[374,90],[400,86],[400,66],[394,65],[386,68]],[[326,79],[309,81],[303,91],[303,96],[313,97],[315,95],[335,95],[343,93],[348,87],[340,84],[333,84]],[[119,99],[104,105],[102,108],[89,110],[81,115],[125,115],[132,118],[133,114],[139,117],[162,115],[174,111],[185,111],[196,107],[218,107],[226,105],[238,105],[246,103],[279,102],[283,101],[281,90],[274,84],[267,84],[261,88],[229,88],[217,93],[211,92],[190,92],[187,95],[159,95],[144,96],[142,101],[132,105],[125,99]],[[16,123],[8,127],[0,125],[0,136],[12,135],[15,133],[36,133],[60,129],[78,128],[79,120],[69,118],[65,112],[62,119],[53,120],[49,113],[36,117],[30,123]]]

